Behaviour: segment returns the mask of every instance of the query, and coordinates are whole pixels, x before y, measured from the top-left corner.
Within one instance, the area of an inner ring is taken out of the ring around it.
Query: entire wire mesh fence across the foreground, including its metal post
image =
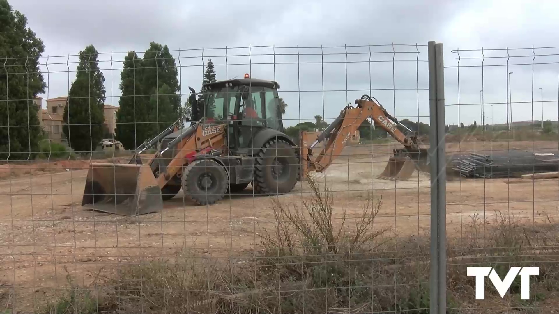
[[[522,175],[557,168],[553,49],[4,58],[0,305],[552,312],[559,183]],[[478,300],[478,265],[541,268]]]

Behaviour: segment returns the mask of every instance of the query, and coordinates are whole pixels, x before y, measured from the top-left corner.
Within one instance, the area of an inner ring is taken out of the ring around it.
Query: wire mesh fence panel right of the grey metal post
[[[540,267],[529,300],[519,277],[503,298],[486,278],[484,300],[449,299],[449,310],[556,311],[558,55],[533,46],[446,53],[448,294],[473,296],[473,278],[459,275],[466,266],[501,279],[511,267]]]

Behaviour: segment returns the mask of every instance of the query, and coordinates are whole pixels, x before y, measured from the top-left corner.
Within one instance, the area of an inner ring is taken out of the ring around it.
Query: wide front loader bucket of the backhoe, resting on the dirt
[[[124,216],[163,209],[163,196],[149,165],[92,163],[82,206]]]

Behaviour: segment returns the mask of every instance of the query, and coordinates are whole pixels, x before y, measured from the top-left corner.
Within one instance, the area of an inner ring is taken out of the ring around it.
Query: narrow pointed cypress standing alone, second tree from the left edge
[[[94,151],[103,139],[105,77],[93,45],[79,52],[75,80],[64,106],[63,131],[70,147],[80,153]]]

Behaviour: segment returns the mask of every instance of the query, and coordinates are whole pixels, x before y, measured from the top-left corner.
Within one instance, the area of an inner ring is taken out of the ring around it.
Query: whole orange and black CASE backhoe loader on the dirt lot
[[[204,84],[203,103],[190,88],[189,101],[201,111],[200,120],[188,127],[177,120],[140,145],[127,164],[92,163],[82,206],[135,216],[162,210],[163,201],[181,188],[186,198],[200,205],[216,203],[249,184],[256,194],[288,193],[309,171],[323,172],[368,117],[404,145],[394,151],[385,177],[397,176],[391,163],[402,168],[406,161],[426,155],[368,96],[357,99],[356,108],[345,107],[312,145],[306,144],[305,134],[296,145],[284,133],[278,88],[277,82],[245,74],[242,79]],[[312,148],[325,139],[328,142],[314,158]],[[140,154],[158,144],[157,153],[144,161]]]

